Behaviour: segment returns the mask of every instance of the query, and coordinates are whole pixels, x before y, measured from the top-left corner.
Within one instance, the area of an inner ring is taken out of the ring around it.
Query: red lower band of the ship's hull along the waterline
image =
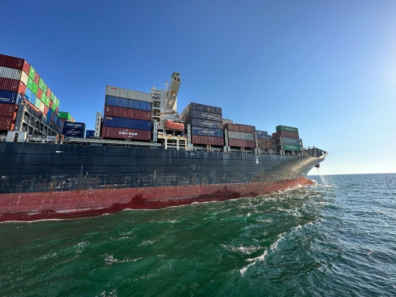
[[[310,179],[299,178],[268,184],[239,183],[0,194],[0,222],[72,219],[115,213],[124,209],[158,209],[193,202],[256,197],[297,185],[313,184]]]

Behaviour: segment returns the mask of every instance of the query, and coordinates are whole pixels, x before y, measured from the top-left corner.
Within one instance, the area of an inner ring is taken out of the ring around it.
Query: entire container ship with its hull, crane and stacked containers
[[[60,101],[25,59],[0,55],[0,221],[78,218],[124,209],[256,197],[312,185],[328,152],[295,127],[271,135],[190,103],[180,74],[150,92],[106,86],[95,129]]]

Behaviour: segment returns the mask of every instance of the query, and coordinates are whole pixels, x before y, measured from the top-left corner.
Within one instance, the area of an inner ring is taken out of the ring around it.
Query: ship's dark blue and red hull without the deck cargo
[[[0,221],[255,197],[309,184],[323,159],[44,143],[0,143]]]

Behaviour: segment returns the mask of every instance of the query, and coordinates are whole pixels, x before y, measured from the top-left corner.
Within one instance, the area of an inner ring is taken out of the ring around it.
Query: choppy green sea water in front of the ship
[[[0,296],[396,296],[396,174],[0,224]]]

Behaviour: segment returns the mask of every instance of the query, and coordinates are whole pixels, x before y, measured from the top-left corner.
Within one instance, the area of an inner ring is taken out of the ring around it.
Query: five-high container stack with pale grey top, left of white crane
[[[101,136],[151,140],[151,93],[106,86]]]

